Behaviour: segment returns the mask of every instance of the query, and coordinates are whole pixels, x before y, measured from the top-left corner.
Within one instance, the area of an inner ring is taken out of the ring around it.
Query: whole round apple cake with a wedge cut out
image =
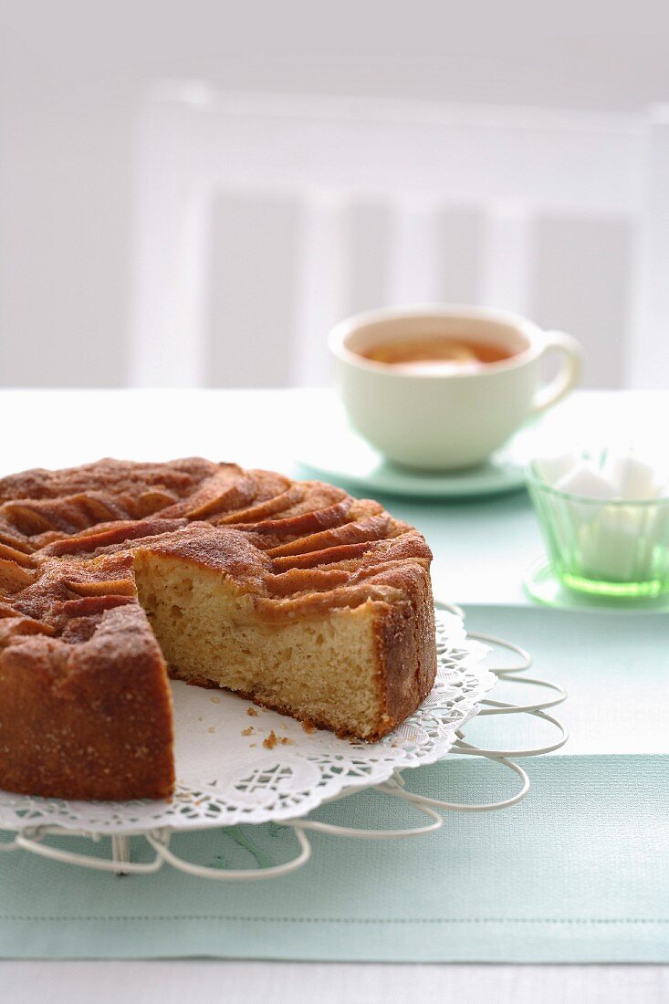
[[[0,479],[0,787],[169,796],[169,676],[379,739],[434,682],[431,557],[377,502],[235,464]]]

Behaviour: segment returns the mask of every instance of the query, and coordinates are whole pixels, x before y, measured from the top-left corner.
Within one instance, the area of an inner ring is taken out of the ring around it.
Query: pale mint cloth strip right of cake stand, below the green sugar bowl
[[[604,610],[567,611],[539,606],[466,606],[469,632],[484,632],[524,646],[534,664],[526,676],[566,688],[556,710],[570,741],[559,753],[669,753],[669,614]],[[499,684],[513,702],[536,693]],[[517,749],[552,732],[536,720],[480,719],[468,736],[479,745],[503,741]],[[499,747],[497,747],[499,748]],[[536,761],[527,761],[533,771]]]

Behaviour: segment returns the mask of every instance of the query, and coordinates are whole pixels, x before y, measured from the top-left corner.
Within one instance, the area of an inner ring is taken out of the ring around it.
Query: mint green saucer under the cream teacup
[[[532,433],[535,430],[532,427]],[[329,415],[326,426],[303,434],[296,461],[305,476],[384,495],[413,498],[475,498],[524,487],[529,429],[478,467],[463,471],[414,471],[386,460],[349,426],[346,416]]]

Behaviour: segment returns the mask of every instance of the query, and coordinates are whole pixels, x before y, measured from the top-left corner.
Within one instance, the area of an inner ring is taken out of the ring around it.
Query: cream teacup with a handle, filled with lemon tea
[[[491,342],[512,354],[472,371],[412,371],[360,354],[393,340],[440,335]],[[527,419],[565,397],[581,360],[569,334],[503,310],[460,305],[371,310],[339,323],[328,343],[354,428],[390,460],[434,471],[482,463]],[[553,351],[562,364],[545,384],[542,360]]]

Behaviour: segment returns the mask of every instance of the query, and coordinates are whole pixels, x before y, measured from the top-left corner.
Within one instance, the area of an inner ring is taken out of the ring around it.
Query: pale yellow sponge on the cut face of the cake
[[[375,602],[273,622],[220,571],[139,549],[135,577],[173,677],[222,687],[340,735],[382,718]]]

